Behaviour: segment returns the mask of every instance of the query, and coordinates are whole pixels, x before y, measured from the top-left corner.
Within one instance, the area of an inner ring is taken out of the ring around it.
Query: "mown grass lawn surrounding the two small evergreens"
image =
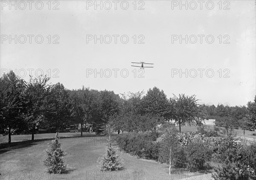
[[[105,155],[106,143],[104,136],[62,138],[61,147],[67,155],[64,161],[68,164],[66,174],[55,175],[44,171],[44,150],[49,141],[23,144],[0,150],[1,180],[26,179],[26,180],[167,180],[189,179],[195,173],[173,172],[169,175],[169,167],[166,164],[157,163],[154,160],[144,160],[129,154],[122,154],[124,169],[119,172],[101,172],[96,160]],[[116,147],[116,146],[115,146]],[[118,152],[120,153],[120,152]],[[210,179],[204,173],[197,173],[194,180]],[[192,178],[192,179],[193,179]]]

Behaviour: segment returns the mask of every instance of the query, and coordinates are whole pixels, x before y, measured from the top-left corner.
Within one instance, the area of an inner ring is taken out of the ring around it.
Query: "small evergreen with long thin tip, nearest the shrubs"
[[[97,162],[101,171],[118,171],[122,168],[122,160],[120,155],[116,155],[116,150],[113,149],[110,137],[110,128],[108,128],[108,149],[105,156],[98,158]]]

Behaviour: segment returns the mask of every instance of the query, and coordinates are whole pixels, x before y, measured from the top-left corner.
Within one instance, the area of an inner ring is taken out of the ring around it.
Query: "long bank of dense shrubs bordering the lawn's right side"
[[[256,173],[255,143],[254,146],[246,146],[242,143],[237,143],[231,137],[204,137],[201,134],[179,133],[175,132],[175,130],[169,134],[162,135],[157,141],[154,140],[155,136],[149,133],[131,133],[116,137],[117,144],[125,152],[167,164],[169,164],[172,144],[171,160],[172,166],[175,168],[197,171],[208,169],[211,161],[223,163],[224,167],[231,165],[236,167],[234,164],[239,162],[239,164],[242,164],[241,166],[249,169],[246,170],[245,168],[244,170],[240,165],[237,165],[239,167],[235,169],[240,169],[240,173],[246,173],[247,171],[250,171],[248,173],[251,174],[254,173],[254,175]],[[244,158],[248,155],[252,160]],[[226,158],[227,160],[224,162]],[[244,160],[241,160],[242,158]],[[251,169],[254,170],[252,171]],[[221,168],[215,169],[219,177],[223,175],[221,174],[222,170]],[[217,177],[216,180],[218,180]]]

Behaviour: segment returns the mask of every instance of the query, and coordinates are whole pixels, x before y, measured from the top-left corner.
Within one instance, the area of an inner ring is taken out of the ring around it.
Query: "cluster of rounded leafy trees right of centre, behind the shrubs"
[[[206,109],[198,104],[195,96],[184,94],[168,99],[157,87],[144,92],[122,94],[121,110],[111,117],[111,123],[116,129],[128,132],[151,131],[164,121],[174,120],[181,126],[199,123],[206,117]]]

